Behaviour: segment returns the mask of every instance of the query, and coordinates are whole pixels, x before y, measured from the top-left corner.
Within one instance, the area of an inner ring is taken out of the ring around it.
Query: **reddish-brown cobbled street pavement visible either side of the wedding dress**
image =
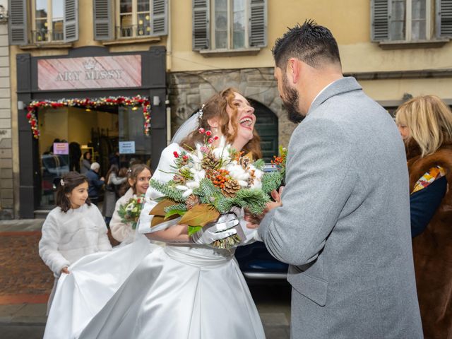
[[[0,338],[42,338],[52,272],[37,244],[44,220],[0,220]],[[110,238],[111,239],[111,238]],[[115,245],[112,239],[112,244]],[[268,339],[290,338],[290,287],[249,282]]]

